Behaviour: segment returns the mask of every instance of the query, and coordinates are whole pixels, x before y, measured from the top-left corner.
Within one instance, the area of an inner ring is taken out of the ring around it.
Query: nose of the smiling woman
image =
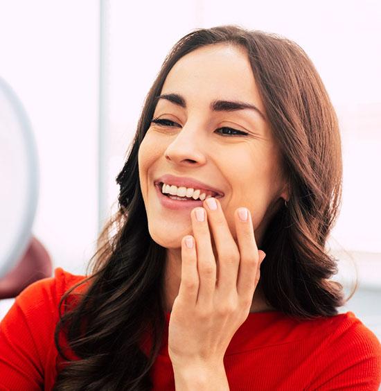
[[[208,148],[200,125],[189,122],[177,133],[165,151],[166,159],[175,164],[204,164]]]

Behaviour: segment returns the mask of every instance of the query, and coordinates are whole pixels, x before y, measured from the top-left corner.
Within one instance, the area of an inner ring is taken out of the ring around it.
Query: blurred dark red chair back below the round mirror
[[[53,266],[51,257],[44,245],[32,236],[28,250],[19,263],[3,278],[0,278],[0,299],[10,299],[19,295],[33,282],[51,277]]]

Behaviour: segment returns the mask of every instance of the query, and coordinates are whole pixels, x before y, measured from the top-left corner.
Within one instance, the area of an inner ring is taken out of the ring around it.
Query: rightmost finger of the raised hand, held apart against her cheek
[[[242,221],[238,212],[246,211],[247,220]],[[235,211],[236,233],[240,251],[240,267],[237,279],[238,297],[244,302],[251,302],[256,288],[258,265],[260,257],[251,214],[247,208],[238,208]]]

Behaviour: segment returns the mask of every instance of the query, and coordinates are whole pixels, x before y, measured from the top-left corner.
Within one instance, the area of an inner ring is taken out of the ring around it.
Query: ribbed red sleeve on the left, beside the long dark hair
[[[0,323],[0,390],[41,390],[46,355],[54,343],[57,285],[64,273],[25,288]]]

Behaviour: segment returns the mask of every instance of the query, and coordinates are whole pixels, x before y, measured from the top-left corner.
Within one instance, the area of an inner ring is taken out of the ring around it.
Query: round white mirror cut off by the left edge
[[[27,250],[38,195],[39,162],[30,122],[0,78],[0,278]]]

